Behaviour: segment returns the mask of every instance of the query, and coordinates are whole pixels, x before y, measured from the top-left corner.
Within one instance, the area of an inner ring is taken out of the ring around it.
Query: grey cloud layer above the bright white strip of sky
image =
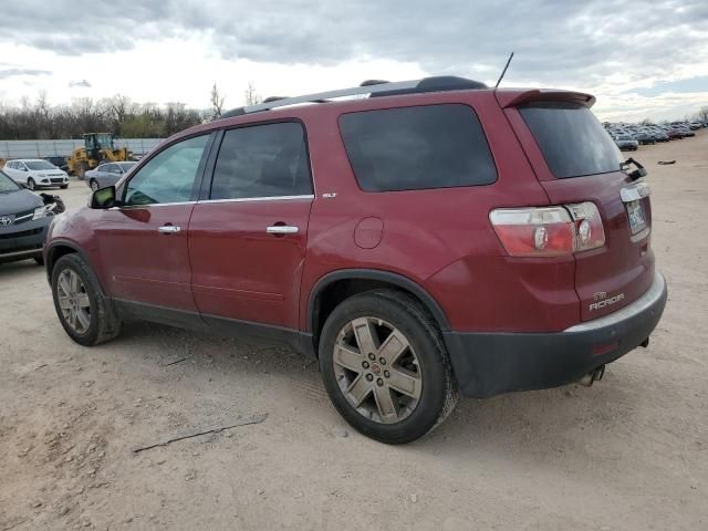
[[[514,51],[506,85],[580,88],[613,97],[660,81],[708,75],[706,0],[4,3],[0,45],[22,43],[58,56],[110,58],[146,43],[195,38],[208,43],[212,56],[226,60],[310,67],[387,60],[429,74],[493,83]],[[162,61],[189,69],[177,52]]]

